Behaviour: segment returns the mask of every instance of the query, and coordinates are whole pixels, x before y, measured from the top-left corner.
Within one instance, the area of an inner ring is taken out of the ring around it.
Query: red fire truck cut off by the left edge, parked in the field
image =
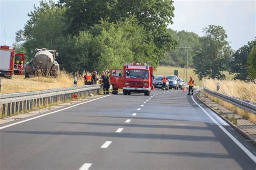
[[[0,46],[0,76],[11,78],[12,74],[22,74],[24,70],[24,54],[15,55],[15,48]]]

